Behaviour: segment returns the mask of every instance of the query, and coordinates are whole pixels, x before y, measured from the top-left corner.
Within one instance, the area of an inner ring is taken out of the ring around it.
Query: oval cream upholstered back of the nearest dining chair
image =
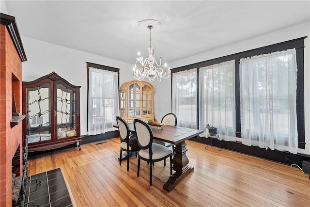
[[[141,149],[152,149],[153,131],[150,126],[140,119],[134,119],[138,145]]]

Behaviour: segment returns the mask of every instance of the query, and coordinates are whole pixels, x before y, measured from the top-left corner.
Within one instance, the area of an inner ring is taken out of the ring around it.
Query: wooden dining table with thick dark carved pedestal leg
[[[129,123],[128,126],[130,131],[135,131],[133,123]],[[203,133],[203,131],[170,125],[162,125],[161,127],[150,125],[150,127],[152,128],[154,139],[175,145],[175,154],[172,159],[172,169],[175,173],[173,173],[164,184],[164,189],[170,192],[186,175],[194,170],[192,166],[188,165],[188,158],[186,156],[188,149],[186,148],[185,141],[197,137],[199,134]]]

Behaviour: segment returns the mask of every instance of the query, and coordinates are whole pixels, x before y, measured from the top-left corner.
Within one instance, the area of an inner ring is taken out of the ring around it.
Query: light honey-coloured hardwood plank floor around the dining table
[[[106,142],[106,143],[101,143]],[[149,167],[138,158],[119,165],[119,139],[83,144],[29,157],[29,175],[61,168],[78,207],[124,206],[310,206],[310,180],[299,169],[205,144],[186,141],[194,172],[171,192],[163,189],[169,159],[156,162],[153,184]]]

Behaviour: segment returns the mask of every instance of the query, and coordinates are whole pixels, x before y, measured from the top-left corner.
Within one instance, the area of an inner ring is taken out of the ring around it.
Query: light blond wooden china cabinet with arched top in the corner
[[[120,87],[120,116],[127,123],[134,119],[154,119],[154,92],[154,87],[149,82],[124,82]]]

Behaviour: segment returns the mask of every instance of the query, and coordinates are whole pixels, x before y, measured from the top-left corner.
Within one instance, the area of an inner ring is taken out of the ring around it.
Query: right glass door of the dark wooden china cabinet
[[[74,137],[76,129],[76,91],[57,84],[57,102],[55,113],[57,114],[58,139]]]

